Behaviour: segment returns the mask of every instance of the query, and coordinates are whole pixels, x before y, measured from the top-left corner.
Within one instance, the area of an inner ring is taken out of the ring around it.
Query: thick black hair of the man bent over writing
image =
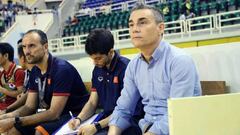
[[[87,54],[108,54],[113,49],[114,39],[109,30],[97,28],[92,30],[86,39],[85,51]]]

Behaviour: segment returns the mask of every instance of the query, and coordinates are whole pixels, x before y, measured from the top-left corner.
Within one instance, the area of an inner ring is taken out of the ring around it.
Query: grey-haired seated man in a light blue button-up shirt
[[[110,119],[109,135],[129,127],[137,100],[142,99],[145,116],[139,121],[144,135],[168,135],[168,98],[201,95],[201,86],[191,56],[162,40],[162,13],[137,4],[129,18],[133,45],[140,50],[128,64],[124,87]]]

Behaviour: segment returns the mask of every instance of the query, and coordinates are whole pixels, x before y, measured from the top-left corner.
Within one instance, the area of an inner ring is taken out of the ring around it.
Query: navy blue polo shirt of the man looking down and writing
[[[109,115],[116,106],[116,101],[123,88],[123,78],[129,59],[115,52],[110,68],[94,67],[92,73],[92,89],[99,97],[99,105]]]

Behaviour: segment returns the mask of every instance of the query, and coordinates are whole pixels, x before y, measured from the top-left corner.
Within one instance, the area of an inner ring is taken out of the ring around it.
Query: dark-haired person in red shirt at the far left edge
[[[22,93],[24,70],[13,62],[14,50],[8,43],[0,43],[0,110],[6,109]]]

